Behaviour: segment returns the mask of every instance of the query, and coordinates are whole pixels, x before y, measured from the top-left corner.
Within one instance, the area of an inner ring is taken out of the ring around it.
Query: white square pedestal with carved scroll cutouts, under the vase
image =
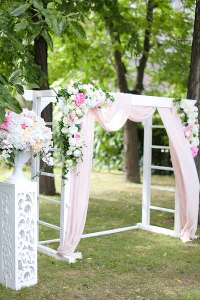
[[[16,290],[37,283],[36,189],[0,182],[0,283]]]

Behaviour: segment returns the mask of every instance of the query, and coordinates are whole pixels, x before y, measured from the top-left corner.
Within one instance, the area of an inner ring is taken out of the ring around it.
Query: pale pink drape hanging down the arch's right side
[[[169,137],[170,155],[178,189],[183,229],[182,241],[196,238],[198,220],[199,181],[191,154],[185,139],[182,124],[176,108],[157,108]]]

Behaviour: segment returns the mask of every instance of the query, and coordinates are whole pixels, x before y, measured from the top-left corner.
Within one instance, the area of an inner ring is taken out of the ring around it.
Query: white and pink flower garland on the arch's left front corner
[[[78,158],[82,160],[85,114],[89,108],[108,106],[109,100],[114,101],[114,98],[100,87],[80,83],[60,89],[56,98],[63,114],[59,121],[59,131],[61,151],[65,157],[62,178],[66,179],[68,168],[75,168]]]

